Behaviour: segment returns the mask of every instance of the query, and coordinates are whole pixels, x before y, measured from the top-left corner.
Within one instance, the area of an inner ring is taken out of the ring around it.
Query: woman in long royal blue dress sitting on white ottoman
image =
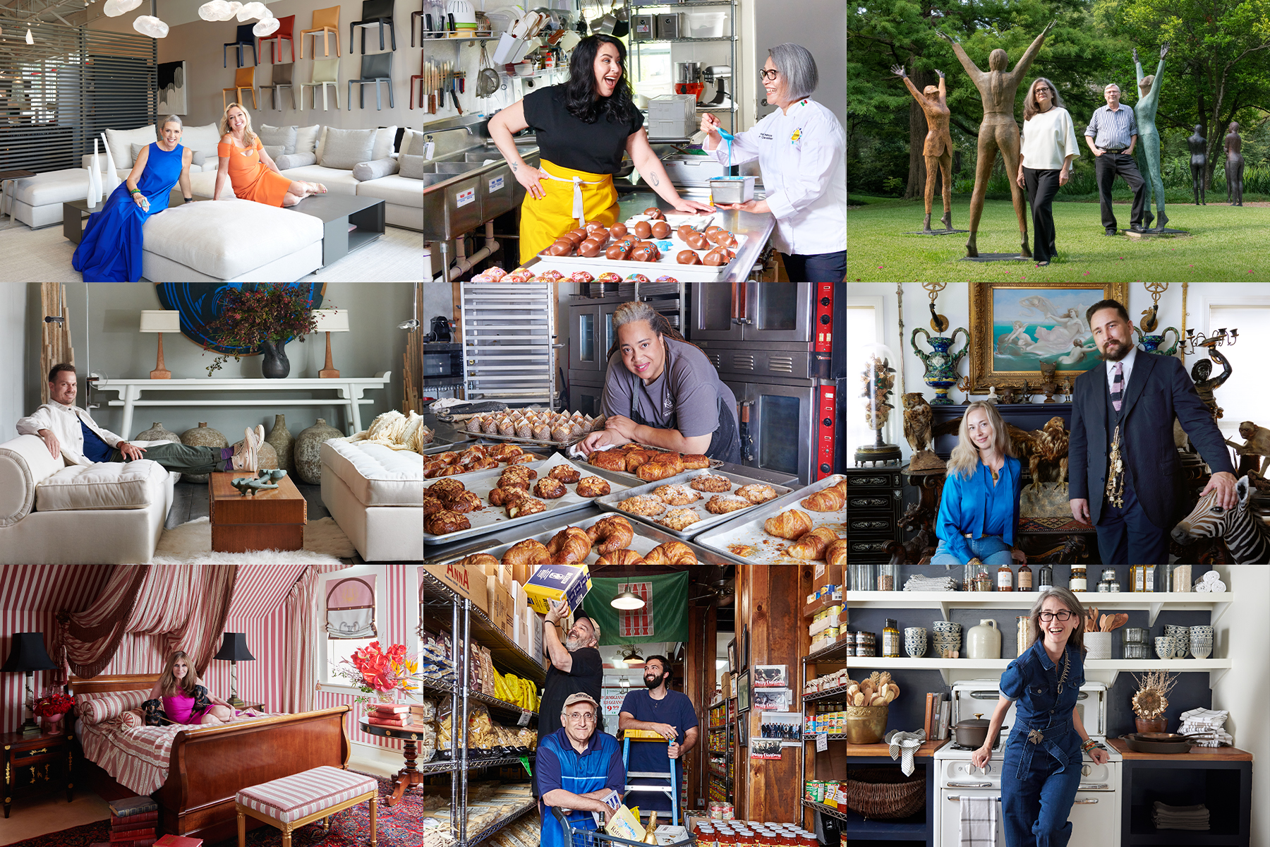
[[[88,218],[84,237],[75,248],[71,265],[84,273],[84,282],[136,282],[141,278],[141,227],[151,215],[168,208],[168,196],[180,182],[185,202],[189,187],[190,151],[180,143],[180,118],[169,114],[155,124],[159,141],[142,147],[128,178],[110,192],[99,212]]]

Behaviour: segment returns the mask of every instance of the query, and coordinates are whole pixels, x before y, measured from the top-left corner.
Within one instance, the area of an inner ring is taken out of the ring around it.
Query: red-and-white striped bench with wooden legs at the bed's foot
[[[371,847],[378,842],[375,805],[380,786],[372,777],[342,771],[338,767],[315,767],[304,773],[284,776],[243,789],[234,797],[239,820],[239,847],[246,844],[246,815],[282,830],[282,847],[291,847],[291,832],[319,818],[329,827],[330,815],[371,804]]]

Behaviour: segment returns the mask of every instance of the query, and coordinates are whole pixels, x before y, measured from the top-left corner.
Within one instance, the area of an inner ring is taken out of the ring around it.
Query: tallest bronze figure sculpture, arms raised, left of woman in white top
[[[970,57],[965,55],[961,44],[955,42],[947,33],[939,34],[952,44],[952,52],[965,69],[966,75],[979,89],[983,99],[983,123],[979,124],[979,159],[974,169],[974,194],[970,197],[970,240],[965,243],[968,257],[979,255],[975,236],[979,231],[979,217],[983,215],[983,198],[988,192],[988,179],[992,177],[992,165],[996,163],[997,151],[1001,151],[1006,163],[1006,173],[1012,174],[1019,170],[1019,124],[1015,122],[1015,94],[1019,83],[1022,81],[1027,69],[1031,67],[1040,46],[1045,41],[1046,33],[1054,27],[1050,22],[1036,41],[1024,51],[1012,71],[1006,70],[1010,56],[999,47],[988,55],[988,70],[980,71]],[[1015,206],[1015,216],[1019,218],[1019,235],[1021,239],[1020,254],[1031,258],[1027,249],[1027,204],[1024,202],[1024,189],[1013,180],[1010,182],[1010,198]]]

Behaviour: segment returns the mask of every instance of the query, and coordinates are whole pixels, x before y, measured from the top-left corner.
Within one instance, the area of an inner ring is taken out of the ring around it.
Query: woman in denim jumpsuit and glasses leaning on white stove
[[[987,740],[972,762],[980,768],[987,763],[1013,702],[1015,725],[1001,773],[1006,847],[1066,847],[1072,837],[1067,817],[1081,782],[1081,750],[1087,749],[1097,764],[1107,761],[1107,752],[1090,740],[1076,710],[1085,682],[1081,601],[1066,588],[1046,589],[1033,606],[1031,620],[1033,632],[1043,637],[1001,674],[1001,698]]]

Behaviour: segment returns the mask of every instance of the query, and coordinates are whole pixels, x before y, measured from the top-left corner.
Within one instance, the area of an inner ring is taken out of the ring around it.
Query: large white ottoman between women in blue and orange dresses
[[[164,282],[295,282],[321,267],[323,223],[245,199],[199,201],[152,215],[141,273]]]

